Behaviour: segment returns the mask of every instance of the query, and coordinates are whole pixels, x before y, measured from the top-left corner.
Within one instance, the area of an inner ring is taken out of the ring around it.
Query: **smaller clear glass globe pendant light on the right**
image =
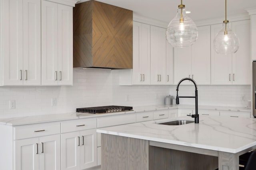
[[[214,50],[218,54],[236,53],[239,47],[239,39],[230,29],[227,20],[227,0],[225,0],[225,21],[223,21],[222,29],[217,33],[213,43]]]

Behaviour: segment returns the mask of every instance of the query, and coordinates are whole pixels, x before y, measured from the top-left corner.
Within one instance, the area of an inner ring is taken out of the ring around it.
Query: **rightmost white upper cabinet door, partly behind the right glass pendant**
[[[250,20],[232,22],[232,31],[240,41],[238,51],[232,54],[232,83],[250,84]]]

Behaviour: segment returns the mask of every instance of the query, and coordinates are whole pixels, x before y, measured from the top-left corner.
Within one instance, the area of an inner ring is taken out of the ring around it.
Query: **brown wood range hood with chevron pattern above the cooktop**
[[[73,14],[74,67],[132,68],[131,10],[90,0]]]

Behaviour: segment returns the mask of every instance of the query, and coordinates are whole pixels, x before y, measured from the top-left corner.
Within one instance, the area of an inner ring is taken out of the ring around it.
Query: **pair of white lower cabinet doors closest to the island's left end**
[[[61,146],[62,170],[97,166],[96,129],[61,134]]]

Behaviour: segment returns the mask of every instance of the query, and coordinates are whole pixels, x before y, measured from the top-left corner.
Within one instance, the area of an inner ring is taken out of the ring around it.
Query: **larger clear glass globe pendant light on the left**
[[[189,47],[198,37],[196,24],[186,15],[185,5],[178,5],[176,17],[166,29],[166,39],[173,47]]]

